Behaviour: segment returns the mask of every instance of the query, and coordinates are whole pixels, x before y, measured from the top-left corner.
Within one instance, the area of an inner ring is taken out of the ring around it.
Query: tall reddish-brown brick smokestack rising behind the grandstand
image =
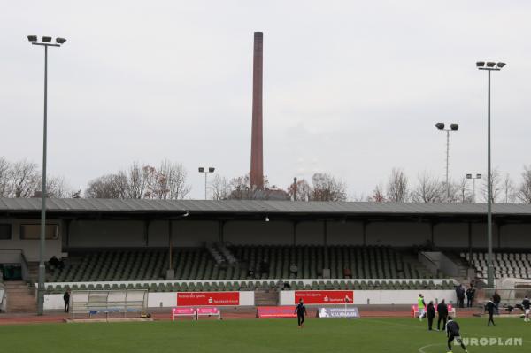
[[[250,186],[264,188],[264,156],[262,138],[262,73],[264,34],[254,33],[252,62],[252,134],[250,141]]]

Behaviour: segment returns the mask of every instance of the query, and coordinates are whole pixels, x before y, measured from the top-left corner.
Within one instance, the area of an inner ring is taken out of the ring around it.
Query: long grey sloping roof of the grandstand
[[[0,214],[36,213],[40,198],[0,198]],[[200,215],[273,215],[292,216],[484,216],[485,203],[366,203],[366,202],[292,202],[268,200],[119,200],[119,199],[53,199],[47,202],[50,213],[74,214],[159,214],[179,216],[189,212]],[[531,204],[495,204],[498,218],[531,217]]]

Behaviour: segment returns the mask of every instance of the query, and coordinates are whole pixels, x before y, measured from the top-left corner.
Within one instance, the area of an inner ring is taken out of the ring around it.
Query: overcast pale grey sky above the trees
[[[275,185],[329,172],[370,194],[392,167],[485,173],[531,163],[528,1],[24,1],[0,12],[0,156],[42,156],[42,49],[50,49],[49,172],[73,188],[164,158],[204,193],[199,165],[249,172],[254,31],[264,32],[264,169]]]

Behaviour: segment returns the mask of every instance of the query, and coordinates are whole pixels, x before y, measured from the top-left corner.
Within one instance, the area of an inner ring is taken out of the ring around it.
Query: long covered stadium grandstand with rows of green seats
[[[0,199],[8,311],[35,311],[40,205],[35,198]],[[45,289],[49,299],[68,289],[250,291],[254,305],[281,303],[281,292],[294,290],[365,291],[356,299],[363,303],[379,303],[373,293],[389,290],[448,295],[458,283],[481,285],[486,276],[485,209],[451,203],[50,199],[45,258],[57,261],[47,261]],[[529,279],[531,205],[496,204],[493,218],[496,277]],[[395,302],[380,303],[400,303],[394,296]],[[48,309],[58,309],[52,302]],[[166,306],[162,299],[153,303]]]

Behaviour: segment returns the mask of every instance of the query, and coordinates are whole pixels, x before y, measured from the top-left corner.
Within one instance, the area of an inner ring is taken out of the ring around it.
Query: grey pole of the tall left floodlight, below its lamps
[[[44,256],[46,253],[46,135],[48,128],[48,47],[44,46],[44,128],[42,138],[42,196],[41,196],[41,247],[39,249],[39,285],[37,288],[37,314],[44,313]]]

